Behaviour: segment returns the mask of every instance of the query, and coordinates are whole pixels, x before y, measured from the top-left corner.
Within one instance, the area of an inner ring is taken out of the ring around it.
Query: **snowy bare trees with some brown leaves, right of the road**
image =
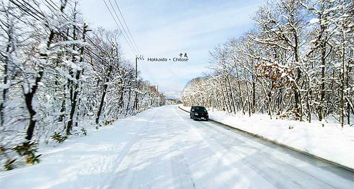
[[[185,86],[182,102],[271,119],[333,116],[342,127],[353,125],[353,6],[349,0],[267,1],[252,15],[252,30],[215,46],[209,74]]]

